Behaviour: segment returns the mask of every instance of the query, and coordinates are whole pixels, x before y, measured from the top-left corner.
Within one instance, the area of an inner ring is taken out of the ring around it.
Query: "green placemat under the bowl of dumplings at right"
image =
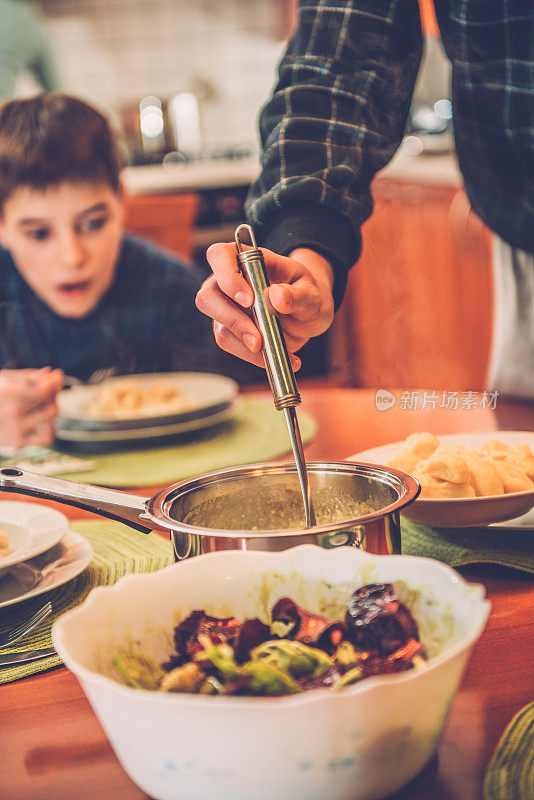
[[[501,564],[534,572],[534,531],[505,528],[426,528],[402,518],[402,552],[437,558],[451,567]]]

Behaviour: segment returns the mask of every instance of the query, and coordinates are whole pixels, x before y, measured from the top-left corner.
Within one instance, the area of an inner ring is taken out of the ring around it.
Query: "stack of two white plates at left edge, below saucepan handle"
[[[0,530],[11,551],[0,558],[0,608],[61,586],[93,557],[89,542],[69,529],[63,514],[37,503],[1,501]]]

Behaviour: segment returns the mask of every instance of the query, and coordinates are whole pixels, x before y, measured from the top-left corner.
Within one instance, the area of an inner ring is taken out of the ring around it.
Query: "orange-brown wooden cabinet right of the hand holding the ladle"
[[[490,234],[463,189],[374,183],[375,211],[330,334],[345,385],[477,391],[488,363]]]

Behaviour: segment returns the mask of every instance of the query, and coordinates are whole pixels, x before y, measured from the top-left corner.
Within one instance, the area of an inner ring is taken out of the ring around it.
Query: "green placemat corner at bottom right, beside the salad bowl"
[[[484,800],[534,800],[534,703],[501,736],[486,772]]]

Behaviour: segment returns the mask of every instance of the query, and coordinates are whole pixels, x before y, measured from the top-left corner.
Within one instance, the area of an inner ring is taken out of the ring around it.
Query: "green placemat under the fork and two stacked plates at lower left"
[[[118,522],[72,522],[71,529],[84,536],[94,550],[93,560],[76,578],[63,586],[16,605],[0,608],[0,633],[14,628],[39,609],[47,600],[53,612],[42,625],[2,653],[52,647],[51,628],[55,620],[82,603],[95,586],[115,583],[130,572],[154,572],[173,563],[172,545],[155,533],[138,533]],[[44,672],[62,664],[59,656],[30,661],[20,666],[0,666],[0,684]]]

